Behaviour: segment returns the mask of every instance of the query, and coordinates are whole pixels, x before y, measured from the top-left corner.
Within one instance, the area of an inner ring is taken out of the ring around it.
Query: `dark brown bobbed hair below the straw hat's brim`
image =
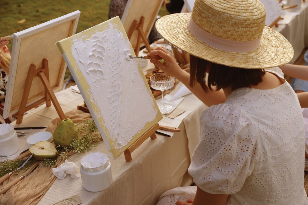
[[[209,74],[207,85],[206,72]],[[190,55],[190,86],[199,83],[205,92],[212,91],[212,86],[217,90],[228,86],[231,86],[232,90],[249,88],[250,85],[261,83],[264,74],[264,69],[229,67]]]

